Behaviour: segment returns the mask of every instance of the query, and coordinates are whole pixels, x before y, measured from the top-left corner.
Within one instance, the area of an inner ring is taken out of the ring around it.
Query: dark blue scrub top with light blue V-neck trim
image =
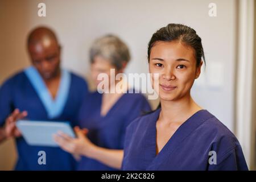
[[[59,104],[51,104],[46,98],[40,98],[39,92],[35,85],[28,78],[27,71],[34,71],[33,68],[28,68],[25,71],[19,72],[3,83],[0,88],[0,125],[3,126],[6,118],[13,112],[15,108],[20,111],[28,111],[27,119],[41,121],[69,121],[72,126],[77,125],[76,116],[82,100],[85,100],[88,95],[88,87],[84,79],[81,77],[66,72],[69,77],[69,85],[67,86],[64,79],[63,84],[60,84],[58,94],[61,95]],[[61,80],[62,79],[61,75]],[[37,80],[38,81],[38,80]],[[40,79],[39,79],[40,82]],[[38,83],[38,82],[37,82]],[[42,82],[41,82],[42,84]],[[43,88],[45,89],[45,88]],[[66,91],[63,89],[67,89]],[[39,89],[40,90],[40,89]],[[58,96],[56,96],[57,98]],[[61,101],[61,98],[65,102]],[[59,107],[51,108],[51,107]],[[50,112],[50,110],[56,110]],[[16,170],[72,170],[76,169],[76,162],[71,154],[61,150],[59,147],[40,147],[29,146],[23,137],[16,138],[16,149],[18,151],[18,162]],[[39,151],[46,152],[46,165],[39,164]]]

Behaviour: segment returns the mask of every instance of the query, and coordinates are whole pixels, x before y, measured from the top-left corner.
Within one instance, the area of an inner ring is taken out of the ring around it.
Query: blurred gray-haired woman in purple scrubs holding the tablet
[[[112,71],[114,77],[123,73],[129,60],[129,49],[116,36],[97,39],[90,49],[91,72],[96,86],[101,85],[101,80],[98,80],[100,73],[105,73],[109,80],[108,84],[100,86],[102,90],[110,91],[121,85],[120,88],[127,93],[99,93],[101,89],[91,93],[84,101],[78,118],[80,127],[87,130],[76,127],[76,139],[63,133],[55,136],[63,150],[82,156],[78,170],[120,169],[126,127],[139,115],[151,110],[141,93],[129,89],[124,80],[113,81],[110,78]]]

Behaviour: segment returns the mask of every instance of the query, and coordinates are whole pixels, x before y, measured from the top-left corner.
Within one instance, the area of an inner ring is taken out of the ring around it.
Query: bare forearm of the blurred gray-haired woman
[[[121,169],[123,150],[114,150],[94,146],[89,155],[90,158],[98,160],[109,167]]]

